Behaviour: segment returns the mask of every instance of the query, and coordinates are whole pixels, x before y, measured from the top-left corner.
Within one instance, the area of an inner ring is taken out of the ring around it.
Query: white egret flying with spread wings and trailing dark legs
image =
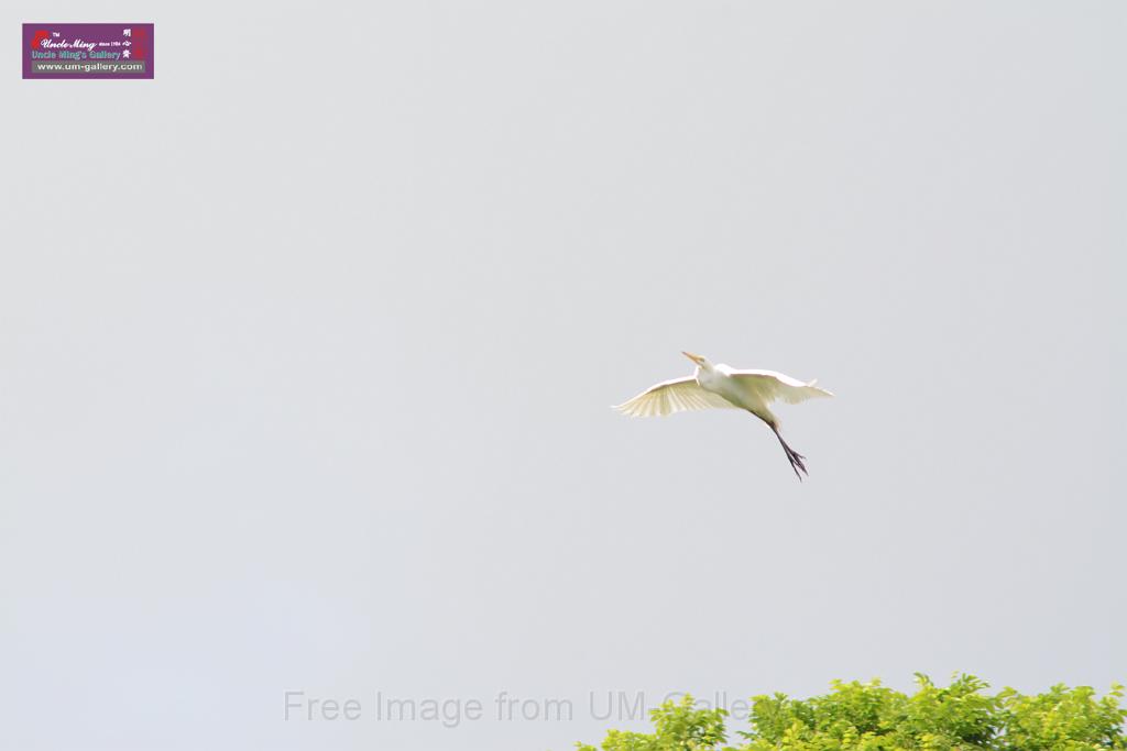
[[[782,439],[779,419],[767,406],[777,399],[798,404],[808,399],[833,396],[832,393],[815,386],[814,381],[802,382],[774,370],[737,370],[724,364],[712,365],[700,355],[682,355],[696,364],[696,370],[691,376],[663,381],[614,409],[632,418],[664,417],[713,406],[747,410],[774,431],[798,479],[808,474],[802,462],[806,457]]]

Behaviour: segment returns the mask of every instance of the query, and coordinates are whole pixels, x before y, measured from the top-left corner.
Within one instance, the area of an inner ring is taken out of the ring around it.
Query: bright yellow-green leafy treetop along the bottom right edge
[[[1127,750],[1124,687],[1102,698],[1086,686],[1054,686],[1024,696],[991,694],[974,676],[940,688],[916,674],[911,696],[872,680],[834,681],[809,699],[753,697],[743,745],[725,745],[725,709],[699,709],[692,697],[650,712],[653,733],[611,731],[603,751],[1101,751]],[[578,744],[579,751],[597,751]]]

